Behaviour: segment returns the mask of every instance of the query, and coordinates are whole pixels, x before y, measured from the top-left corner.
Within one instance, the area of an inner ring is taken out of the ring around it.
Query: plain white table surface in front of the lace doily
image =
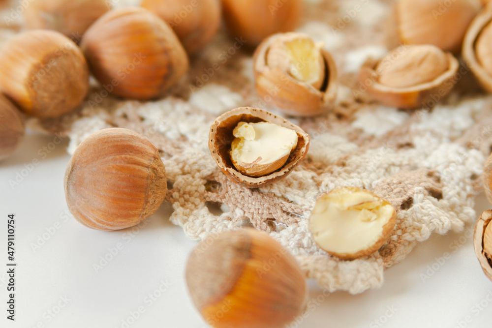
[[[169,222],[172,208],[163,204],[148,224],[134,230],[82,226],[66,215],[67,140],[57,146],[53,141],[29,134],[0,163],[0,327],[208,327],[184,283],[184,264],[196,241]],[[25,164],[33,160],[39,162],[27,165],[30,171]],[[12,187],[9,180],[17,173],[22,181]],[[479,196],[477,218],[488,207]],[[15,322],[6,319],[9,213],[16,221]],[[310,282],[309,311],[290,327],[492,327],[492,282],[475,257],[468,229],[418,245],[386,271],[380,289],[328,295]],[[110,259],[106,264],[104,257]]]

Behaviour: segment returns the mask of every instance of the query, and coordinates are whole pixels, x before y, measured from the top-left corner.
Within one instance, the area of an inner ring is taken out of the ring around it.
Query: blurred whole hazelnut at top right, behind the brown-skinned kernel
[[[466,29],[480,11],[478,0],[399,0],[395,4],[398,41],[431,44],[443,51],[459,52]]]

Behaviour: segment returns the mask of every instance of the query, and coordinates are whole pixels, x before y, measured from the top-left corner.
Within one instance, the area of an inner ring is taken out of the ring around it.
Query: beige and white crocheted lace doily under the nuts
[[[136,1],[114,1],[124,2]],[[92,81],[79,110],[31,126],[69,136],[69,153],[102,128],[139,132],[161,151],[169,179],[166,201],[174,209],[170,219],[189,238],[250,225],[277,239],[296,256],[306,277],[329,291],[379,287],[384,269],[403,260],[417,242],[432,233],[460,232],[476,217],[473,198],[492,144],[491,98],[480,93],[463,67],[452,94],[431,111],[405,112],[356,100],[361,64],[387,52],[385,21],[392,1],[305,2],[298,30],[324,42],[333,54],[340,75],[338,101],[324,116],[288,118],[310,134],[311,145],[304,162],[275,184],[247,189],[231,182],[208,149],[210,125],[221,113],[240,106],[271,110],[268,99],[254,91],[251,50],[236,49],[224,31],[161,100],[113,98]],[[367,188],[399,209],[391,238],[367,258],[331,257],[309,233],[316,199],[338,186]]]

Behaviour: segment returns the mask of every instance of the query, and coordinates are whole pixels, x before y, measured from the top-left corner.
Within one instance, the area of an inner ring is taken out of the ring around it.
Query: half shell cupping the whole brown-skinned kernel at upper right
[[[411,46],[424,47],[424,46]],[[398,88],[379,83],[379,74],[376,72],[380,60],[367,60],[359,73],[361,88],[367,88],[371,96],[388,106],[402,109],[416,109],[421,107],[433,107],[454,87],[459,61],[450,53],[445,54],[448,62],[444,73],[439,74],[433,80],[415,86]]]

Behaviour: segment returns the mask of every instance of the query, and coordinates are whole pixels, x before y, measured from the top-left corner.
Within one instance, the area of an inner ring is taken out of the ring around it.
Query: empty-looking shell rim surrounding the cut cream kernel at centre
[[[229,150],[234,140],[232,131],[239,122],[270,122],[294,130],[297,133],[297,146],[290,152],[287,162],[277,171],[262,177],[249,177],[240,173],[231,161]],[[272,113],[251,107],[240,107],[226,112],[215,119],[210,128],[209,149],[222,172],[232,181],[247,188],[257,188],[285,178],[306,157],[309,149],[309,135],[299,126]]]

